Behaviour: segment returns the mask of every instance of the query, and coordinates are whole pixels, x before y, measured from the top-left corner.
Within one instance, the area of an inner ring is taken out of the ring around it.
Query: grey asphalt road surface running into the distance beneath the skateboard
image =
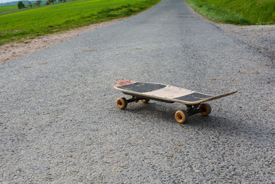
[[[84,51],[86,50],[86,51]],[[94,51],[91,51],[94,50]],[[271,183],[275,72],[182,0],[0,65],[1,183]],[[115,79],[232,96],[116,108]]]

